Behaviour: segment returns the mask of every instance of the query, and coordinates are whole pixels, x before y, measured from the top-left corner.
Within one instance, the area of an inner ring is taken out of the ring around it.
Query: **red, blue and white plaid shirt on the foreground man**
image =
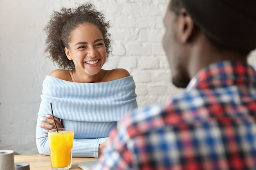
[[[95,170],[255,170],[256,72],[211,64],[182,95],[134,111],[117,129]]]

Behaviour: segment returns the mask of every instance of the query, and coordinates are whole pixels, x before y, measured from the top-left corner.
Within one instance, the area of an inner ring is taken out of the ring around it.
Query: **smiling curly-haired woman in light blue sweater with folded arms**
[[[109,23],[92,4],[55,11],[45,27],[46,52],[62,69],[43,82],[36,144],[49,155],[48,130],[74,129],[73,157],[99,157],[117,121],[137,107],[135,83],[122,68],[103,70],[111,53]]]

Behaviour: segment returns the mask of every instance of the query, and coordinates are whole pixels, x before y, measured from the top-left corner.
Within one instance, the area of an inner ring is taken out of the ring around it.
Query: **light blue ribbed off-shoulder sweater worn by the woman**
[[[43,94],[38,111],[36,146],[49,155],[48,135],[39,124],[51,115],[61,119],[65,128],[74,129],[73,157],[98,157],[99,144],[108,139],[117,121],[137,108],[132,76],[99,83],[69,82],[51,76],[43,81]],[[45,123],[43,123],[45,124]]]

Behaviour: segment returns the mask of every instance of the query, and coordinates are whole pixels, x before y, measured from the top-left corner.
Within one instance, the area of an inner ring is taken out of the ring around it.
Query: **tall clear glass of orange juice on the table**
[[[49,130],[49,150],[51,167],[53,170],[68,170],[72,165],[72,148],[74,130],[56,129]]]

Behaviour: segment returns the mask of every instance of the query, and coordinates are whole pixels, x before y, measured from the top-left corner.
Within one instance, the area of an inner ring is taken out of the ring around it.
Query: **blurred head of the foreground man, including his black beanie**
[[[164,18],[163,46],[173,84],[186,87],[190,81],[189,55],[199,32],[220,53],[232,51],[246,57],[254,50],[255,9],[254,0],[170,0]]]

